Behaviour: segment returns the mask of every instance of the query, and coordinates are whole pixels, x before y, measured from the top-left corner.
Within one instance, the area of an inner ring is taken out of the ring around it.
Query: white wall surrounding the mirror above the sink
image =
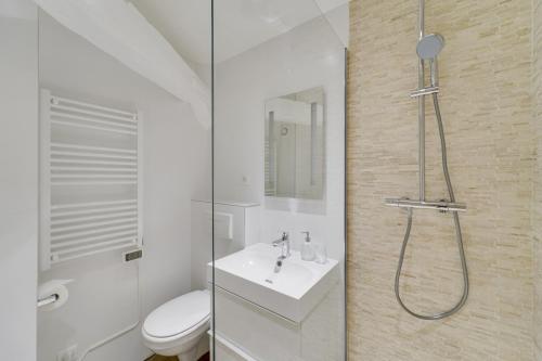
[[[220,29],[217,29],[220,31]],[[323,86],[326,96],[326,192],[323,215],[263,211],[261,242],[292,232],[295,247],[310,231],[331,257],[344,257],[344,47],[324,18],[218,64],[216,68],[215,190],[218,199],[266,203],[264,101]],[[244,181],[248,180],[248,181]]]

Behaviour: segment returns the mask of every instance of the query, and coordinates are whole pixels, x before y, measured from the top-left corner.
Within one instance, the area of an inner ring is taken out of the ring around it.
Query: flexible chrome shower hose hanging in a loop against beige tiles
[[[435,114],[437,117],[437,125],[439,128],[440,150],[441,150],[441,154],[442,154],[442,170],[444,172],[444,179],[446,179],[446,184],[448,186],[448,194],[450,196],[450,202],[454,203],[455,197],[453,195],[452,182],[450,181],[450,172],[448,171],[448,156],[447,156],[447,152],[446,152],[444,129],[442,126],[442,116],[440,114],[440,107],[439,107],[437,93],[433,94],[433,103],[435,105]],[[401,254],[399,256],[399,265],[397,266],[395,291],[396,291],[396,298],[397,298],[399,305],[401,305],[401,307],[406,312],[409,312],[413,317],[422,319],[422,320],[441,320],[441,319],[444,319],[449,315],[452,315],[455,312],[457,312],[463,307],[463,305],[465,305],[467,297],[468,297],[468,271],[467,271],[467,262],[465,259],[465,250],[463,249],[463,236],[461,234],[460,216],[457,215],[456,210],[452,211],[452,216],[453,216],[453,222],[455,224],[455,240],[457,242],[457,248],[459,248],[460,259],[461,259],[461,267],[463,269],[463,296],[461,297],[460,301],[448,311],[443,311],[443,312],[439,312],[439,313],[435,313],[435,314],[420,314],[420,313],[416,313],[416,312],[410,310],[403,304],[403,301],[401,299],[401,295],[399,293],[399,281],[401,279],[401,269],[402,269],[403,260],[404,260],[404,252],[406,250],[406,245],[409,244],[410,232],[412,229],[412,208],[409,208],[406,231],[404,232],[404,240],[403,240],[403,244],[401,246]]]

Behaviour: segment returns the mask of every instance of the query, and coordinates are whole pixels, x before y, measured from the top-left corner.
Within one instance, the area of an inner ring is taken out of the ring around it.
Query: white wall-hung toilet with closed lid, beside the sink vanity
[[[145,346],[155,353],[195,361],[197,344],[209,328],[209,292],[193,291],[151,312],[141,333]]]

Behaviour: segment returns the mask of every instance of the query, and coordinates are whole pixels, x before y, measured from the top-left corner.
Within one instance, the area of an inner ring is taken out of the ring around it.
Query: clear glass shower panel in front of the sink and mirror
[[[345,359],[338,4],[214,2],[216,360]]]

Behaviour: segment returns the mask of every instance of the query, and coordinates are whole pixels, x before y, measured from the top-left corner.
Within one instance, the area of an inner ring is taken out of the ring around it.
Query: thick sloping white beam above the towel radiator
[[[163,35],[124,0],[35,0],[59,23],[192,105],[210,125],[210,91]]]

